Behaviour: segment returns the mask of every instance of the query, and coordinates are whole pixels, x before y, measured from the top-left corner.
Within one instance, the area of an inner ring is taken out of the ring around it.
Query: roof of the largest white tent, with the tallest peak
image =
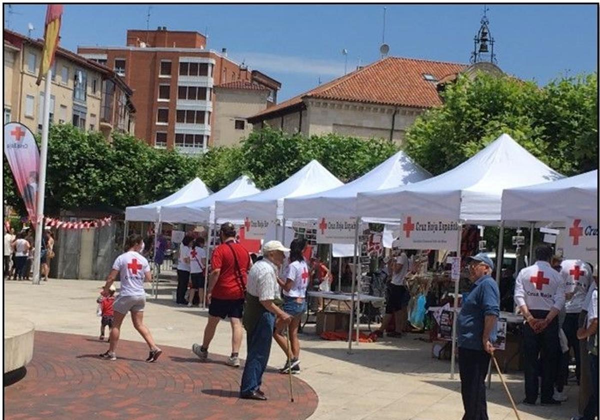
[[[362,217],[401,218],[431,214],[485,224],[500,220],[502,191],[563,178],[502,134],[478,154],[448,172],[390,190],[358,194]]]

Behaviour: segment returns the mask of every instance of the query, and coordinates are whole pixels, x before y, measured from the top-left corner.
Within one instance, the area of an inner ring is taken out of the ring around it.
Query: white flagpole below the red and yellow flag
[[[52,67],[46,73],[46,85],[44,85],[44,116],[41,129],[40,149],[40,173],[37,206],[35,215],[35,250],[34,250],[34,274],[32,284],[40,284],[40,256],[41,236],[44,233],[44,196],[46,195],[46,160],[48,155],[48,129],[50,125],[50,85],[52,85]]]

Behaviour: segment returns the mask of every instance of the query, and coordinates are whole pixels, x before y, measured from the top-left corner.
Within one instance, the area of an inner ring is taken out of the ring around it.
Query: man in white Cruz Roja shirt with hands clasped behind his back
[[[565,305],[565,281],[550,266],[553,250],[541,245],[535,250],[536,262],[524,269],[515,281],[515,303],[526,320],[523,328],[525,404],[538,400],[538,357],[542,367],[542,405],[556,405],[553,398],[559,362],[559,322],[557,315]]]

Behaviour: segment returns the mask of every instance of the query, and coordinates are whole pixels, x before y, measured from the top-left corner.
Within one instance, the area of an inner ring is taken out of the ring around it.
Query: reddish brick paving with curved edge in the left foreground
[[[158,343],[160,345],[160,343]],[[107,343],[74,334],[35,332],[27,375],[4,388],[5,419],[305,419],[318,397],[307,383],[268,368],[262,390],[268,401],[241,400],[242,368],[223,356],[200,362],[191,350],[161,346],[146,363],[145,343],[120,340],[116,361],[98,355]]]

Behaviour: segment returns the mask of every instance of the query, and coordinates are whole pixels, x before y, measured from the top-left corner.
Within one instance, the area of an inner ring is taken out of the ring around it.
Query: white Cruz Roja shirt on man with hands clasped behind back
[[[515,280],[515,303],[529,310],[561,310],[565,305],[565,280],[546,261],[522,269]]]

